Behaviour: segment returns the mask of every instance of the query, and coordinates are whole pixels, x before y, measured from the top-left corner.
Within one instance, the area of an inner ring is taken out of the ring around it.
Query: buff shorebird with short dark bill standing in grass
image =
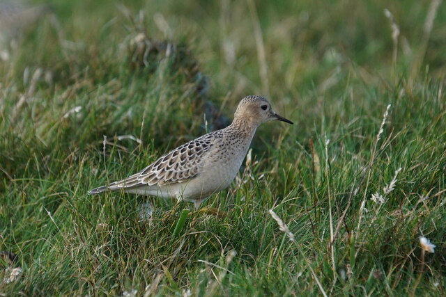
[[[293,125],[258,95],[244,97],[231,125],[210,132],[161,156],[126,179],[93,188],[89,194],[122,191],[193,202],[197,210],[213,193],[228,188],[249,150],[257,127],[270,120]]]

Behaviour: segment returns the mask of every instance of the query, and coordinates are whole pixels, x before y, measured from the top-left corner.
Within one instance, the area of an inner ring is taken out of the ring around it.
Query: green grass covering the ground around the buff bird
[[[0,251],[22,268],[6,284],[1,267],[0,294],[446,294],[444,5],[426,32],[429,1],[125,2],[171,56],[133,63],[137,29],[111,1],[54,0],[58,20],[0,64]],[[250,94],[295,125],[259,128],[252,161],[204,203],[225,218],[86,195],[203,134],[207,100],[231,118]],[[421,235],[437,246],[424,263]]]

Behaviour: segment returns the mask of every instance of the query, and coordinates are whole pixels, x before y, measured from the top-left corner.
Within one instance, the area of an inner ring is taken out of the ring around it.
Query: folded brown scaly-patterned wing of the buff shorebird
[[[141,172],[110,184],[109,189],[163,186],[187,182],[199,174],[199,170],[203,166],[203,154],[208,152],[214,142],[215,137],[206,134],[185,143],[157,159]]]

